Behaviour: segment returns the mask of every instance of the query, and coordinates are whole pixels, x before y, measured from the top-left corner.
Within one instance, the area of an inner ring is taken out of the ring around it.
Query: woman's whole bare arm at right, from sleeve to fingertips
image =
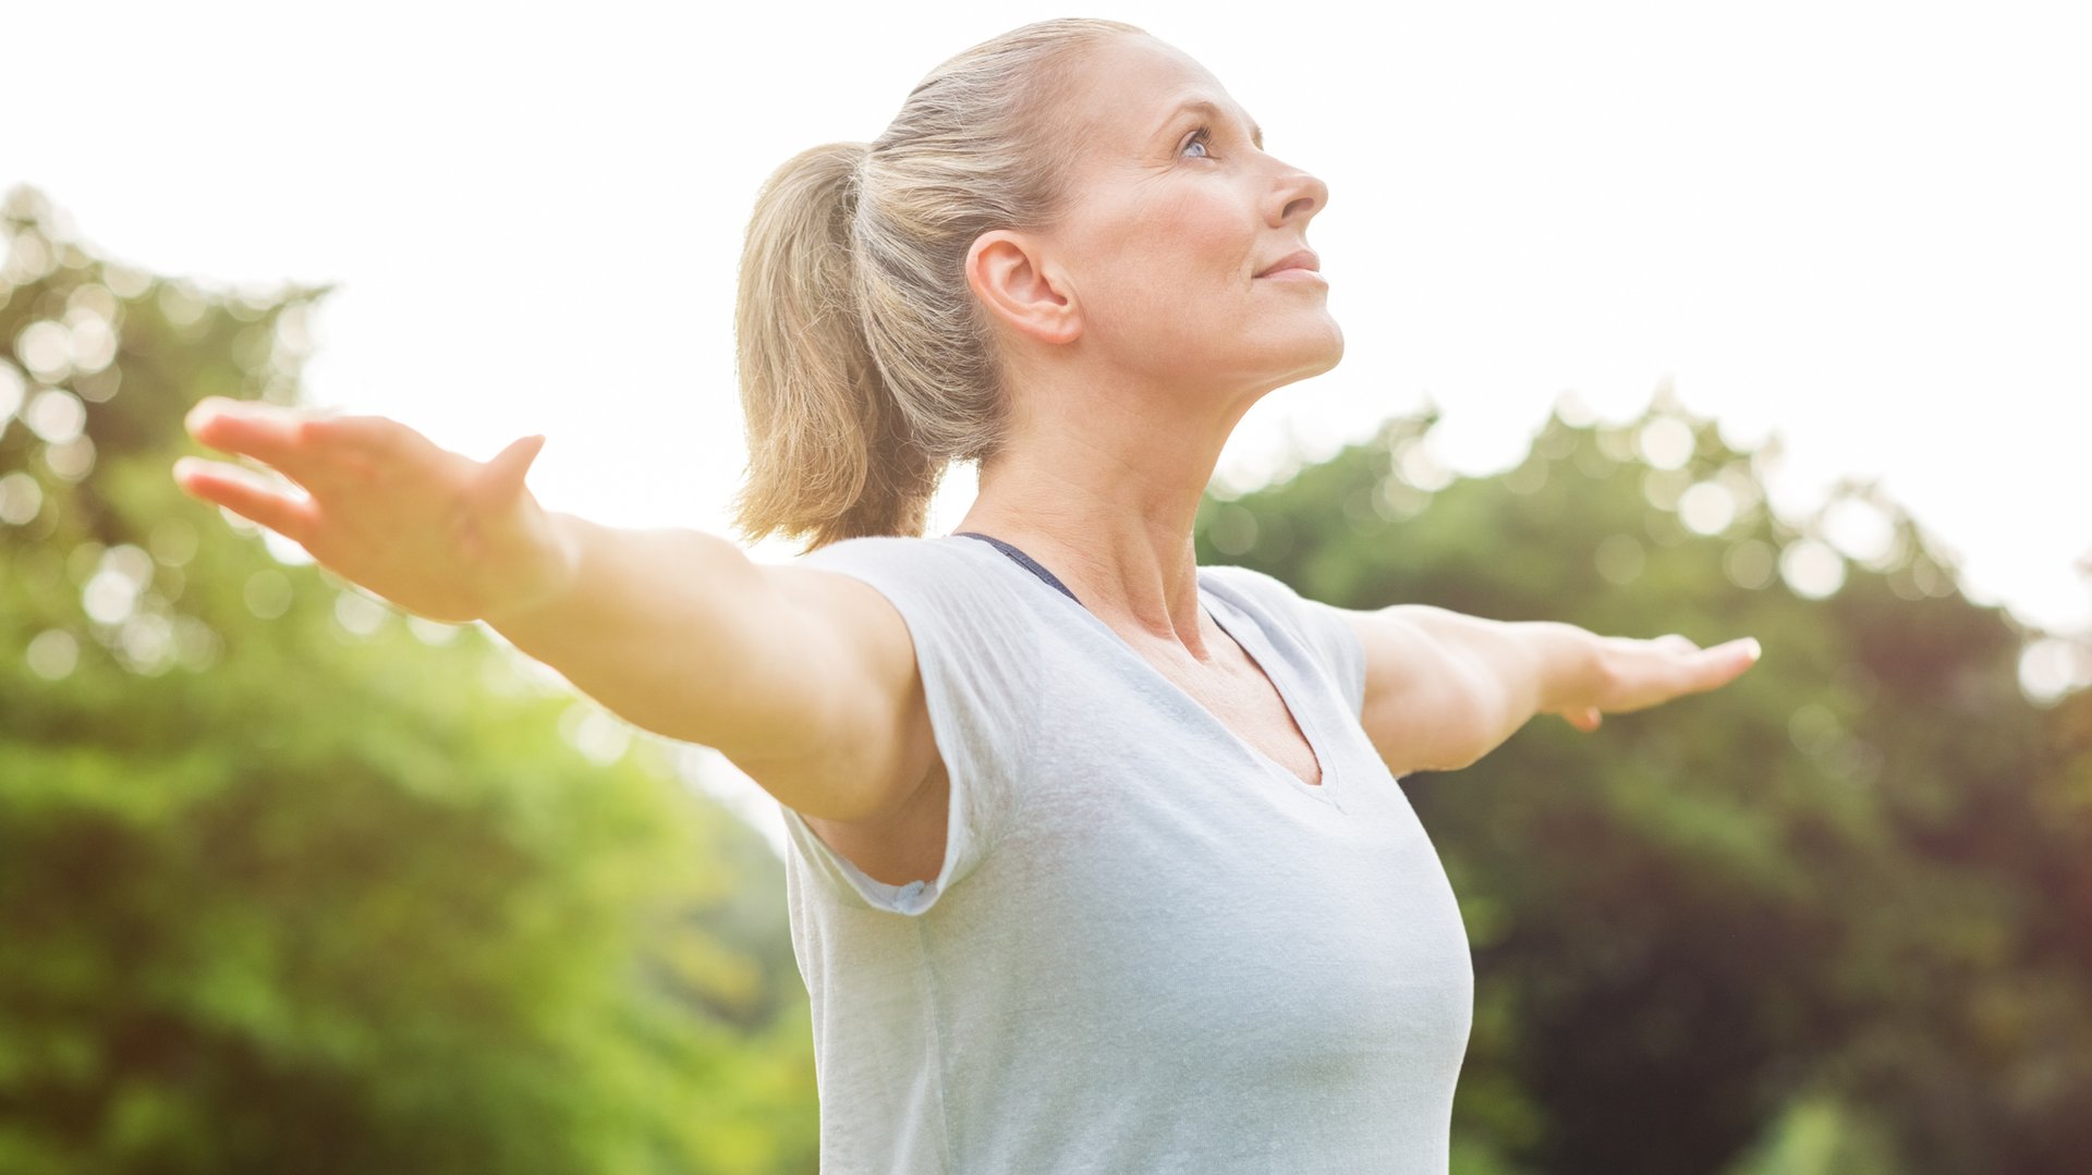
[[[1596,730],[1726,686],[1757,661],[1757,640],[1699,648],[1682,636],[1632,640],[1552,621],[1485,621],[1427,604],[1339,608],[1366,648],[1360,721],[1397,778],[1466,767],[1533,715]]]

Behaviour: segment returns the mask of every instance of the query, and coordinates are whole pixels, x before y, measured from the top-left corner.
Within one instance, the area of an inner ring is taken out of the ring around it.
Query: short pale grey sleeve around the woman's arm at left
[[[793,567],[870,583],[902,615],[923,673],[931,734],[950,776],[943,866],[935,878],[889,884],[828,847],[782,807],[784,830],[812,880],[843,901],[925,914],[994,849],[1010,824],[1038,730],[1038,631],[1008,583],[935,539],[868,535],[828,544]]]

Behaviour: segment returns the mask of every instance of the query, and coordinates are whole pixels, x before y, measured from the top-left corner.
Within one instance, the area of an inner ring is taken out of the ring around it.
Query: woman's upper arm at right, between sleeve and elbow
[[[1389,771],[1450,771],[1496,746],[1502,682],[1446,633],[1487,621],[1420,606],[1345,608],[1345,619],[1366,650],[1360,723]]]

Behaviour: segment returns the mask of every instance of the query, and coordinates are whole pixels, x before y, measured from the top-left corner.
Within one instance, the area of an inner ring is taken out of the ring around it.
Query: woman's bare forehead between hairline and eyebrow
[[[1086,142],[1132,151],[1169,132],[1186,107],[1207,119],[1238,121],[1245,132],[1255,128],[1207,67],[1149,36],[1113,38],[1086,52],[1067,102]]]

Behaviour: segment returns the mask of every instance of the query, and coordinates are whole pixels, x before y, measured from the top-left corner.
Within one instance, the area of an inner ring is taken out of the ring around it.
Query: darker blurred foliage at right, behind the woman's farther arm
[[[2038,633],[1908,514],[1845,485],[1782,521],[1776,445],[1667,391],[1621,427],[1556,414],[1498,477],[1452,477],[1433,420],[1211,496],[1201,562],[1764,644],[1715,694],[1404,782],[1475,945],[1456,1169],[2084,1171],[2092,692],[2033,705]]]

